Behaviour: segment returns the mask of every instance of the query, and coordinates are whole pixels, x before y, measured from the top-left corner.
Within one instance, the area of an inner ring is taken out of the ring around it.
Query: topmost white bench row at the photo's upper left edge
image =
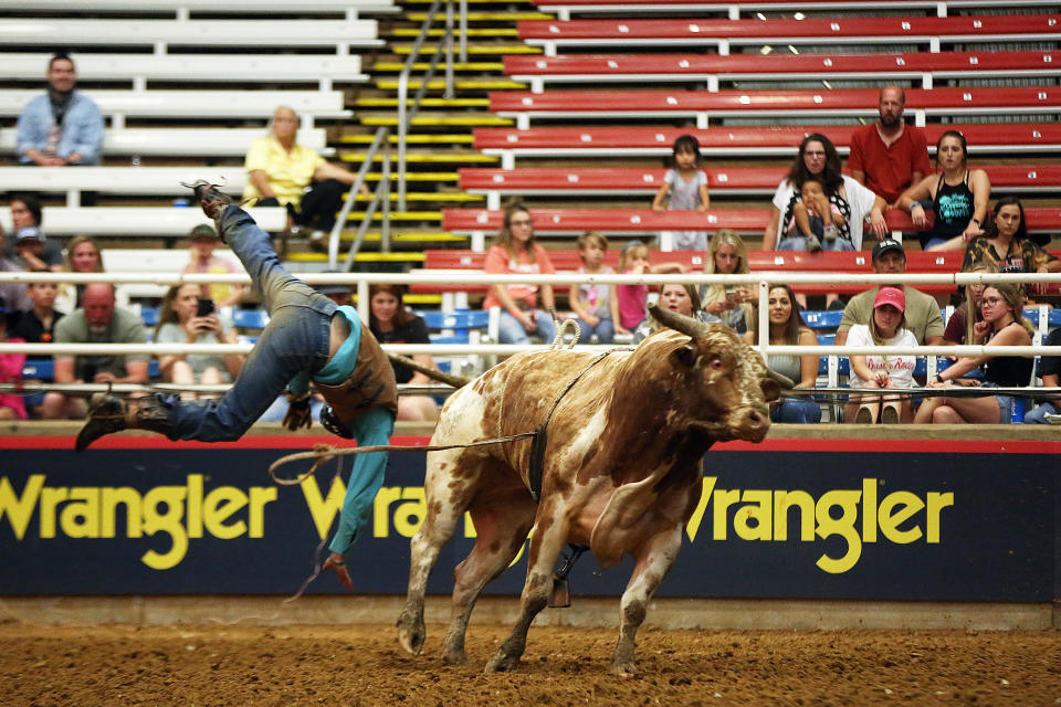
[[[35,11],[69,11],[74,8],[78,12],[128,12],[128,0],[31,0]],[[30,3],[27,0],[0,0],[0,9],[25,11]],[[174,14],[177,19],[187,19],[192,12],[218,12],[227,14],[274,14],[290,13],[293,7],[290,0],[228,0],[219,3],[217,0],[139,0],[135,10],[143,13]],[[389,0],[303,0],[298,2],[300,15],[312,13],[343,13],[348,20],[355,20],[358,13],[390,13],[399,12]]]

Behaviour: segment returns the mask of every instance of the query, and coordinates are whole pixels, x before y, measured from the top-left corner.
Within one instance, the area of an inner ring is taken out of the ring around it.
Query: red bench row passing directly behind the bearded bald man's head
[[[755,91],[523,91],[491,92],[490,108],[516,118],[519,128],[532,118],[690,118],[707,127],[708,118],[878,116],[879,88]],[[1061,113],[1057,86],[911,88],[906,112],[917,125],[927,116]]]

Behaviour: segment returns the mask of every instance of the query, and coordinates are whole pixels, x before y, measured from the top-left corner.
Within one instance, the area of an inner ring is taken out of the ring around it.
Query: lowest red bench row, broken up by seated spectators
[[[619,249],[608,251],[605,262],[616,267],[619,260]],[[1061,255],[1061,251],[1054,252]],[[652,263],[681,263],[689,272],[702,272],[707,254],[702,251],[675,251],[661,253],[651,251],[649,260]],[[907,273],[956,273],[962,268],[963,251],[946,251],[942,253],[926,253],[924,251],[908,251],[906,253]],[[486,254],[466,250],[429,250],[424,252],[424,267],[427,270],[468,270],[481,272]],[[549,260],[559,272],[575,272],[581,261],[578,251],[553,250]],[[871,273],[873,272],[870,251],[854,251],[848,253],[801,253],[796,251],[748,251],[748,267],[755,272],[810,272],[810,273]],[[412,285],[413,292],[444,292],[460,289],[468,293],[482,294],[487,285],[469,282],[466,285]],[[805,294],[858,294],[866,289],[862,284],[799,284],[794,289]],[[946,294],[955,291],[946,283],[918,284],[917,288],[932,294]]]

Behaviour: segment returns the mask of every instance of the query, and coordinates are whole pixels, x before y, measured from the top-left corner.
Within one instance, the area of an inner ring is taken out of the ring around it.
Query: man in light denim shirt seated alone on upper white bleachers
[[[66,54],[48,62],[48,93],[30,101],[19,116],[15,151],[23,165],[98,165],[103,116],[76,88],[77,73]]]

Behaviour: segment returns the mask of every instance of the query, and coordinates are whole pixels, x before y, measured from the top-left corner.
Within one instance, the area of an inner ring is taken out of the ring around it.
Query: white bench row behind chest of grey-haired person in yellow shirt
[[[106,128],[103,131],[103,154],[242,158],[251,143],[266,134],[264,128]],[[324,128],[298,130],[296,139],[318,155],[335,154],[335,149],[327,146]],[[0,129],[0,151],[10,155],[14,146],[14,128]]]

